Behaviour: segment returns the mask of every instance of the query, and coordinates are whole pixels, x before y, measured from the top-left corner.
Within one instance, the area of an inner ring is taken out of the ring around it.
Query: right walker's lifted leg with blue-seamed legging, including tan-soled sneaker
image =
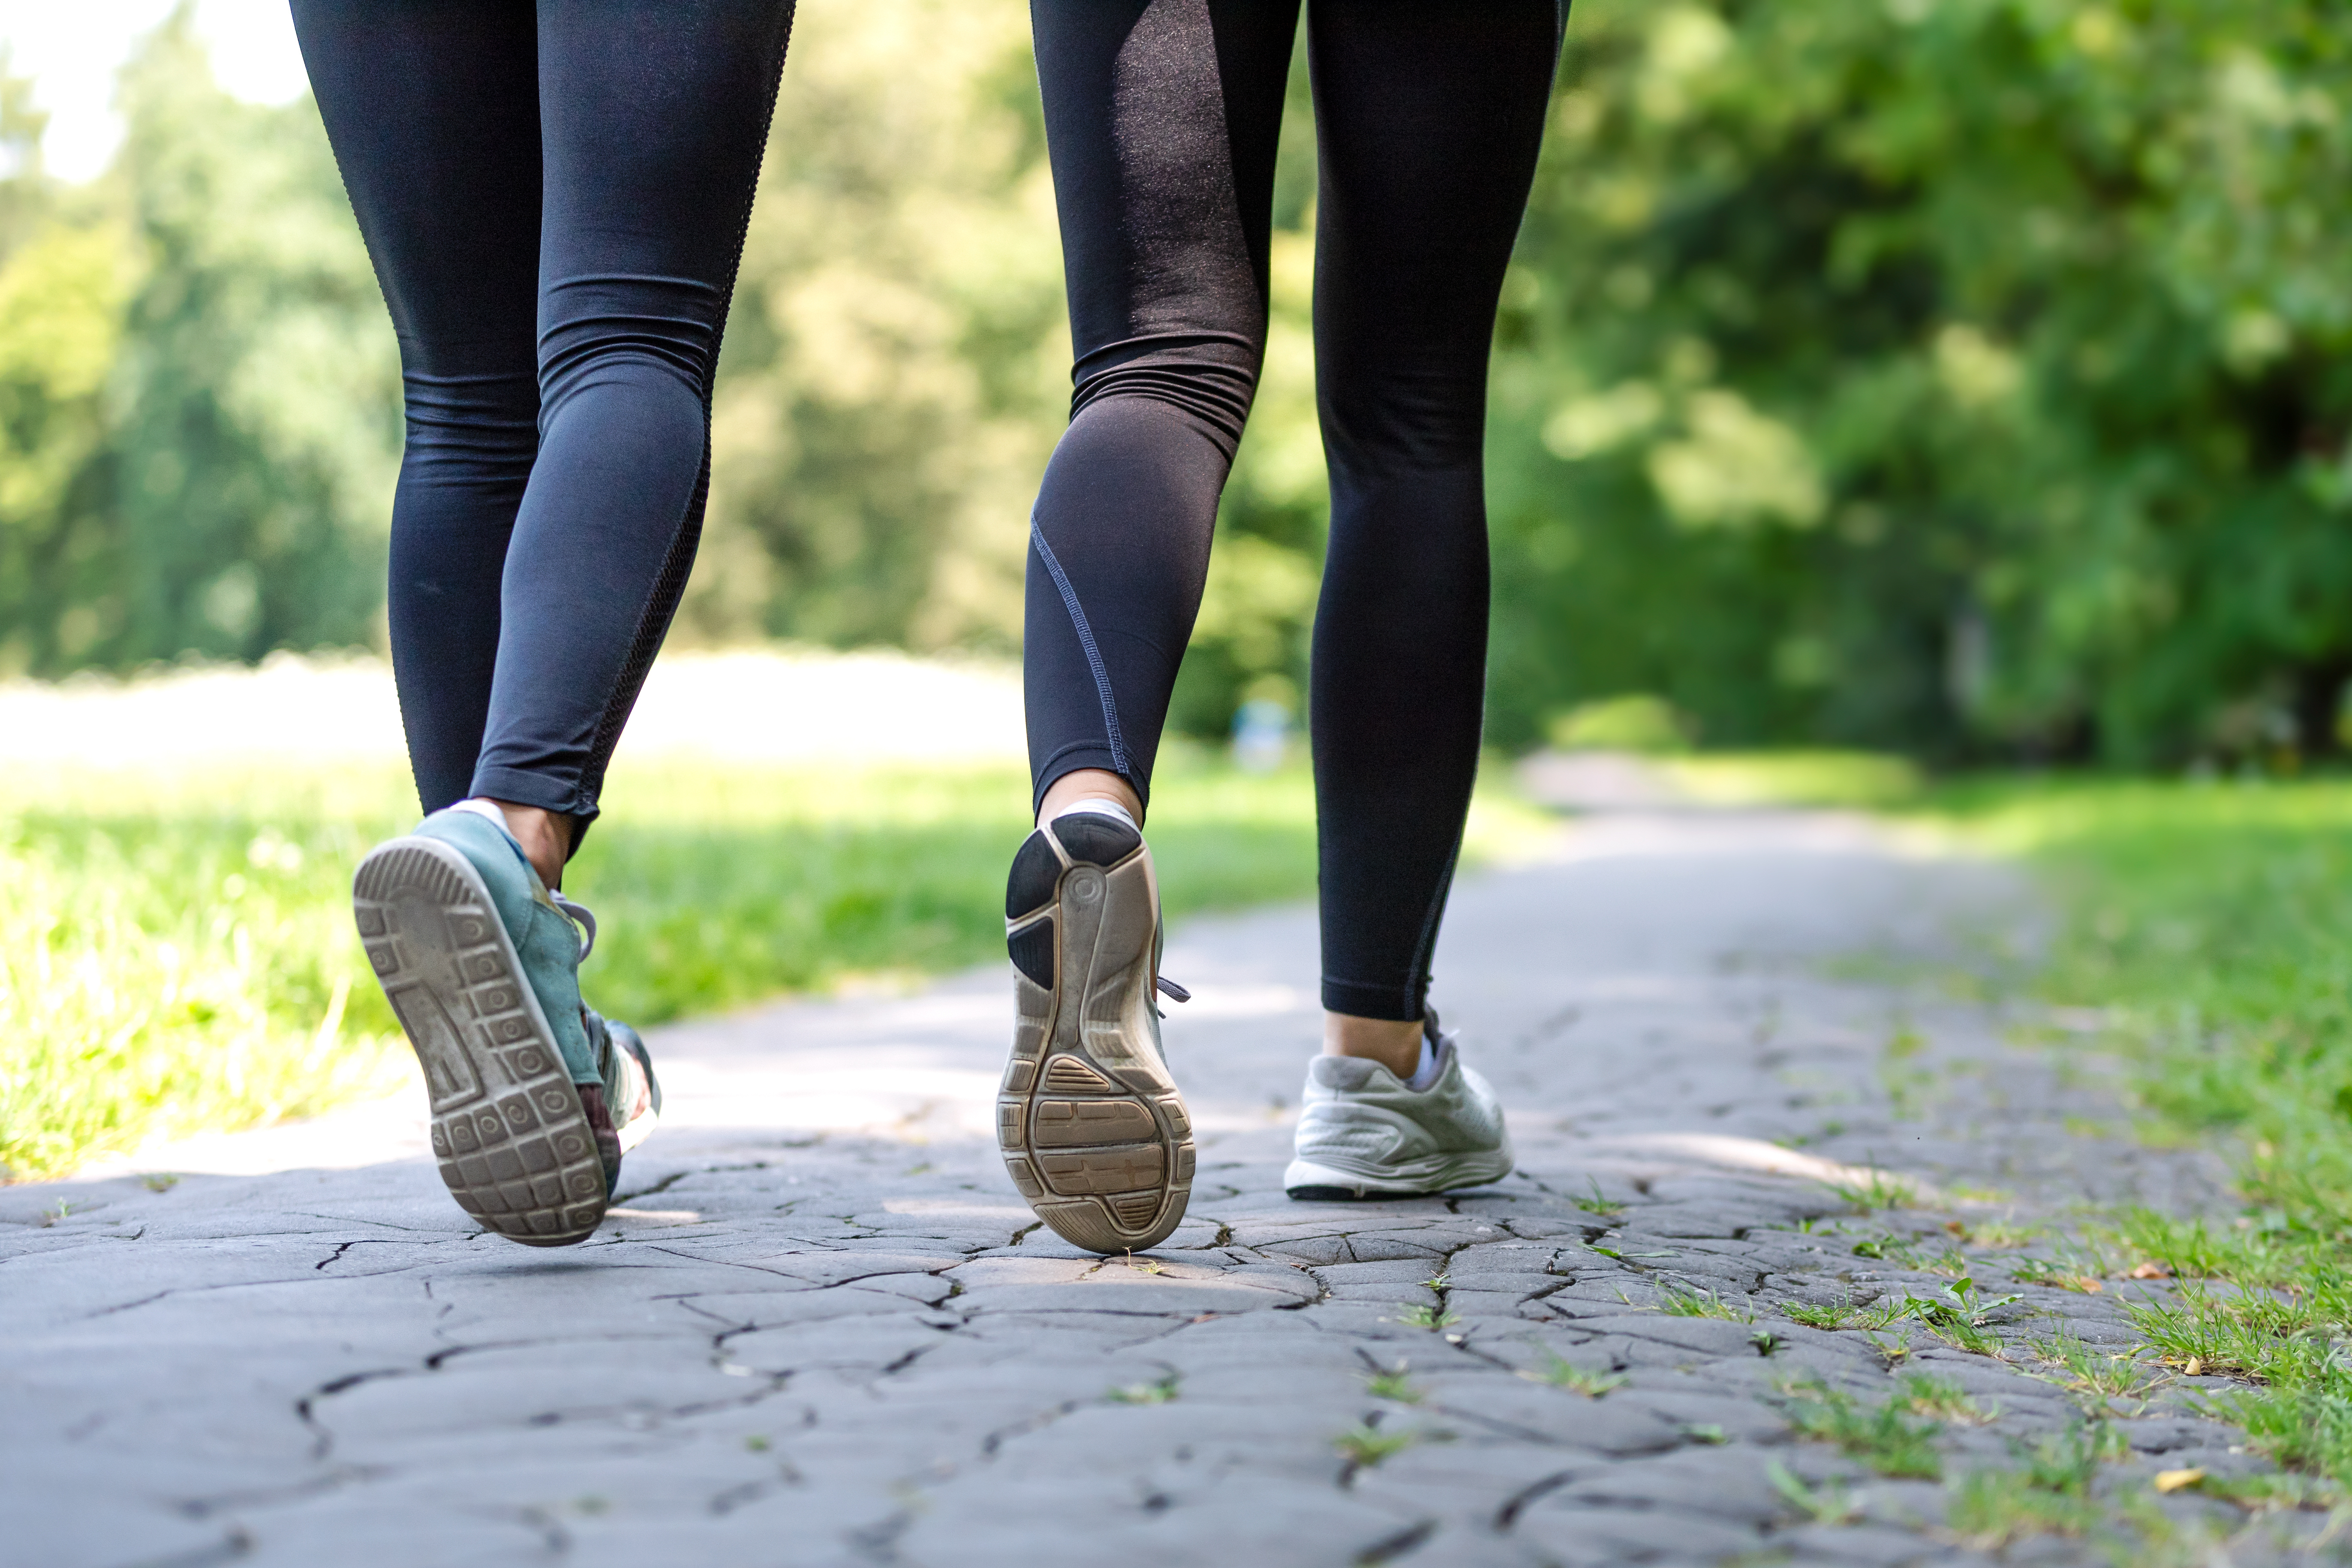
[[[1296,0],[1035,0],[1030,16],[1077,393],[1030,527],[1037,830],[1004,893],[997,1124],[1037,1215],[1108,1253],[1162,1241],[1192,1187],[1141,820],[1256,388]]]

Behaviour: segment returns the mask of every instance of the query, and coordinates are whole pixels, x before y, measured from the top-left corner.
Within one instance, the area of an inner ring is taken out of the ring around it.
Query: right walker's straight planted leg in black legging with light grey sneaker
[[[1428,1009],[1477,776],[1486,355],[1526,205],[1555,0],[1317,0],[1315,353],[1331,538],[1310,726],[1324,1051],[1294,1197],[1498,1180],[1494,1091]]]

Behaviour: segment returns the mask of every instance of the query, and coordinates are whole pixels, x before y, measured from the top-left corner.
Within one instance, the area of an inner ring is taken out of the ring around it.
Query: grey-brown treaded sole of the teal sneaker
[[[423,1067],[449,1197],[508,1241],[586,1241],[609,1201],[595,1128],[482,875],[393,839],[360,863],[350,912]]]

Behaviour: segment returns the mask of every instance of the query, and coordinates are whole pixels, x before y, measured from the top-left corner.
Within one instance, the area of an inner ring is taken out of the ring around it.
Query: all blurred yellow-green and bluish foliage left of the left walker
[[[397,355],[318,113],[186,7],[120,106],[103,181],[0,190],[0,670],[374,642]]]

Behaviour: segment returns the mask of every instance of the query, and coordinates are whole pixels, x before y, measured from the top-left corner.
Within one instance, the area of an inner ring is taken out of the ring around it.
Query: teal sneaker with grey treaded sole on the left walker
[[[350,896],[459,1208],[527,1246],[586,1241],[661,1114],[644,1041],[581,1004],[595,917],[456,806],[369,851]]]

